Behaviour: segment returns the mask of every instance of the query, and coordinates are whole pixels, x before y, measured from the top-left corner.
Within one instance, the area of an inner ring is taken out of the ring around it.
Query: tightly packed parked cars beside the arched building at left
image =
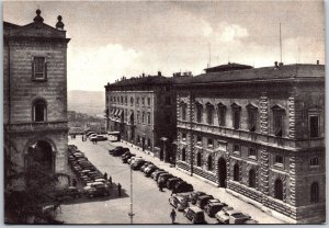
[[[89,197],[95,196],[109,196],[111,193],[111,186],[103,174],[84,157],[75,145],[68,147],[68,161],[72,171],[81,183],[84,184],[82,191],[79,191],[76,186],[71,186],[71,191],[77,189],[77,195],[87,195]],[[78,196],[77,196],[78,197]]]

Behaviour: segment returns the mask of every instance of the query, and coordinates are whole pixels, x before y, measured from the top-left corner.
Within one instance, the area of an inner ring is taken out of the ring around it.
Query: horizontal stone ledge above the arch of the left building
[[[46,132],[46,130],[68,130],[67,122],[29,122],[12,123],[4,126],[11,133]]]

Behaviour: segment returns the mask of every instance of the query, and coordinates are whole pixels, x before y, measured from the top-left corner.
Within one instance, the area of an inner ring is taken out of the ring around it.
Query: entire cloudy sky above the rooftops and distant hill
[[[55,26],[63,16],[68,46],[68,89],[103,91],[122,76],[203,72],[231,62],[254,67],[325,62],[320,1],[4,2],[4,21],[31,23],[35,10]],[[211,44],[211,45],[209,45]]]

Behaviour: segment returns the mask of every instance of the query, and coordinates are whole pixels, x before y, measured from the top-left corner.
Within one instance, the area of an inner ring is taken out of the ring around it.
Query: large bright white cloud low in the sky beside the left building
[[[141,53],[118,44],[98,47],[68,48],[69,90],[102,90],[114,78],[122,76]]]

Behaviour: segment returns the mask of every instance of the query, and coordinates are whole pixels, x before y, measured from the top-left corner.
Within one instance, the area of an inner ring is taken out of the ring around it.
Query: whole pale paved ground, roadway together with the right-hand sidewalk
[[[66,224],[129,224],[129,184],[131,173],[129,167],[122,163],[121,157],[113,157],[107,150],[115,146],[125,146],[126,142],[99,141],[93,145],[91,141],[81,141],[80,137],[70,140],[75,144],[88,159],[101,171],[107,172],[112,176],[114,183],[121,183],[123,187],[122,197],[117,197],[115,192],[110,198],[98,198],[93,201],[76,202],[75,204],[66,204],[61,206],[59,219]],[[254,206],[242,202],[241,200],[228,194],[224,189],[215,187],[204,183],[194,176],[190,176],[175,168],[170,168],[168,163],[163,163],[157,158],[144,153],[136,147],[129,147],[131,151],[137,156],[144,157],[146,160],[154,162],[156,166],[180,176],[192,183],[195,190],[204,191],[214,197],[234,206],[243,213],[248,213],[260,224],[282,224],[282,221],[269,216]],[[133,171],[134,183],[134,224],[169,224],[169,213],[172,207],[168,203],[170,191],[159,192],[157,184],[152,179],[145,178],[140,171]],[[206,217],[209,224],[216,223],[214,218]],[[178,224],[191,224],[182,213],[178,213]]]

